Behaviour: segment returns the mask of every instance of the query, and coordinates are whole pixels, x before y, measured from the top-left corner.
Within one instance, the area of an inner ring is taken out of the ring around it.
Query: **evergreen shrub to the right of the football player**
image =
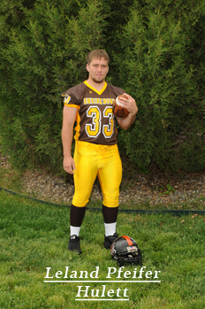
[[[135,1],[114,55],[118,83],[139,106],[119,142],[136,166],[205,168],[204,2]]]

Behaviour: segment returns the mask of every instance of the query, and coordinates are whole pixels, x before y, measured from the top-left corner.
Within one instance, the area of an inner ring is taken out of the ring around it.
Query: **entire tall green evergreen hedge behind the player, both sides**
[[[205,5],[192,0],[3,0],[0,135],[16,166],[62,171],[61,93],[87,79],[87,53],[110,55],[108,82],[136,99],[118,129],[141,170],[205,167]]]

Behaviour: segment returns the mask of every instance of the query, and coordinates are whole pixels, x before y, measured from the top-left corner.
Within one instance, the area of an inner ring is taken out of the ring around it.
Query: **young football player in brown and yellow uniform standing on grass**
[[[68,89],[64,98],[62,143],[65,172],[73,174],[75,192],[72,199],[68,250],[80,250],[80,227],[85,215],[88,198],[95,178],[98,176],[103,192],[104,247],[110,249],[118,237],[119,185],[122,179],[122,163],[118,153],[117,129],[113,119],[112,104],[116,97],[125,93],[108,84],[105,77],[109,71],[109,56],[104,50],[93,50],[87,56],[87,81]],[[122,98],[121,104],[130,112],[118,120],[120,127],[127,129],[133,124],[137,105],[133,99]],[[72,158],[72,134],[75,127],[75,151]]]

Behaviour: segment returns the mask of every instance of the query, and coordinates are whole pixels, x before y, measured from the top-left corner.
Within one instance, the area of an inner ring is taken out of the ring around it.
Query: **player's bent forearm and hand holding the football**
[[[126,130],[128,127],[130,127],[133,124],[133,121],[136,118],[136,114],[138,112],[138,107],[137,104],[135,102],[135,100],[133,99],[133,97],[125,94],[126,97],[128,97],[128,99],[126,99],[125,97],[120,97],[119,98],[119,102],[121,104],[125,105],[125,108],[127,109],[128,112],[130,112],[128,114],[128,116],[123,119],[123,120],[118,120],[118,124],[120,127],[122,127],[124,130]]]

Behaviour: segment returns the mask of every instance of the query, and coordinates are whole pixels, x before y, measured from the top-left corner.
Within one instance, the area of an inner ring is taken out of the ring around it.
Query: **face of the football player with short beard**
[[[89,72],[89,78],[91,78],[96,83],[103,82],[108,71],[108,62],[104,58],[94,58],[91,63],[87,65],[87,72]]]

